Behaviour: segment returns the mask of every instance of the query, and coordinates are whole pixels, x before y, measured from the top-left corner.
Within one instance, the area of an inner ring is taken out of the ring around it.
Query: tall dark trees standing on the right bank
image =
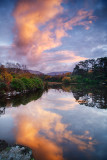
[[[87,78],[85,81],[94,80],[107,83],[107,57],[80,61],[73,70],[73,76],[79,75]],[[91,81],[90,81],[91,82]]]

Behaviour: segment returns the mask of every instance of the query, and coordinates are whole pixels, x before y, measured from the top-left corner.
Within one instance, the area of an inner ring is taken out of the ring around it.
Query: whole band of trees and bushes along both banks
[[[44,82],[44,83],[43,83]],[[46,82],[46,83],[45,83]],[[48,82],[64,84],[107,84],[107,57],[80,61],[73,69],[61,75],[35,75],[25,65],[0,65],[0,94],[26,92],[48,87]]]

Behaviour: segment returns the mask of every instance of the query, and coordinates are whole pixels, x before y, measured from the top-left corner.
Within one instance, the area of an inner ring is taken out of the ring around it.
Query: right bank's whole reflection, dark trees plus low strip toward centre
[[[97,108],[107,108],[106,86],[83,85],[54,85],[53,89],[72,92],[76,101],[81,105]]]

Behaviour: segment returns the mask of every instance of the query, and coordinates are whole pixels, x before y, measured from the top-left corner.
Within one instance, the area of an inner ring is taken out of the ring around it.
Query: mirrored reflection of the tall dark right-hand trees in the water
[[[74,98],[79,104],[89,107],[107,108],[107,89],[100,87],[79,88],[72,90]]]

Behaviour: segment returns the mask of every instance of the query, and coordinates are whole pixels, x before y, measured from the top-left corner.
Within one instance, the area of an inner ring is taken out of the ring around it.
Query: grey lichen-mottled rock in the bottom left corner
[[[9,145],[0,140],[0,160],[34,160],[32,150],[21,145]]]

